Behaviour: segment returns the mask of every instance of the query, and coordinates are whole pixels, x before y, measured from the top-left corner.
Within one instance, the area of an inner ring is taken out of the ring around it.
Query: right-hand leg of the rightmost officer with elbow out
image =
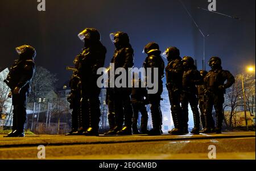
[[[224,94],[214,95],[214,109],[216,112],[216,133],[221,134],[223,114]]]

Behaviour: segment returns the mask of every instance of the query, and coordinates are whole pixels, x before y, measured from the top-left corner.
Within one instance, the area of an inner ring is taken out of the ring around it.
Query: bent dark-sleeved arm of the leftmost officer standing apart
[[[25,66],[23,68],[22,77],[20,77],[18,87],[21,89],[24,87],[28,81],[31,80],[35,72],[35,64],[32,61],[26,61]]]

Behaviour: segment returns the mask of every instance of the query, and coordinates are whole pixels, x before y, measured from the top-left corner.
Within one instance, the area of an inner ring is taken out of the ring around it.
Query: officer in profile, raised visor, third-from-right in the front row
[[[167,48],[162,54],[168,60],[166,66],[166,81],[167,89],[171,104],[172,119],[174,120],[175,128],[168,131],[169,134],[183,134],[180,106],[180,95],[182,91],[183,64],[181,62],[180,51],[176,47]]]

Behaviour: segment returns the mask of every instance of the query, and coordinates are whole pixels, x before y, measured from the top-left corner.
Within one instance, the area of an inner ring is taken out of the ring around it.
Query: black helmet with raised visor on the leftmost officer
[[[16,52],[19,54],[20,60],[35,60],[36,51],[35,48],[31,47],[31,45],[21,45],[20,47],[16,47]]]

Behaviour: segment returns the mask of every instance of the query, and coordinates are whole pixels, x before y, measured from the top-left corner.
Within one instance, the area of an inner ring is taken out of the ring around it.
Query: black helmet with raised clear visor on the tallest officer
[[[100,32],[96,28],[85,28],[85,30],[81,31],[78,35],[79,39],[86,42],[92,41],[97,42],[101,40]]]

